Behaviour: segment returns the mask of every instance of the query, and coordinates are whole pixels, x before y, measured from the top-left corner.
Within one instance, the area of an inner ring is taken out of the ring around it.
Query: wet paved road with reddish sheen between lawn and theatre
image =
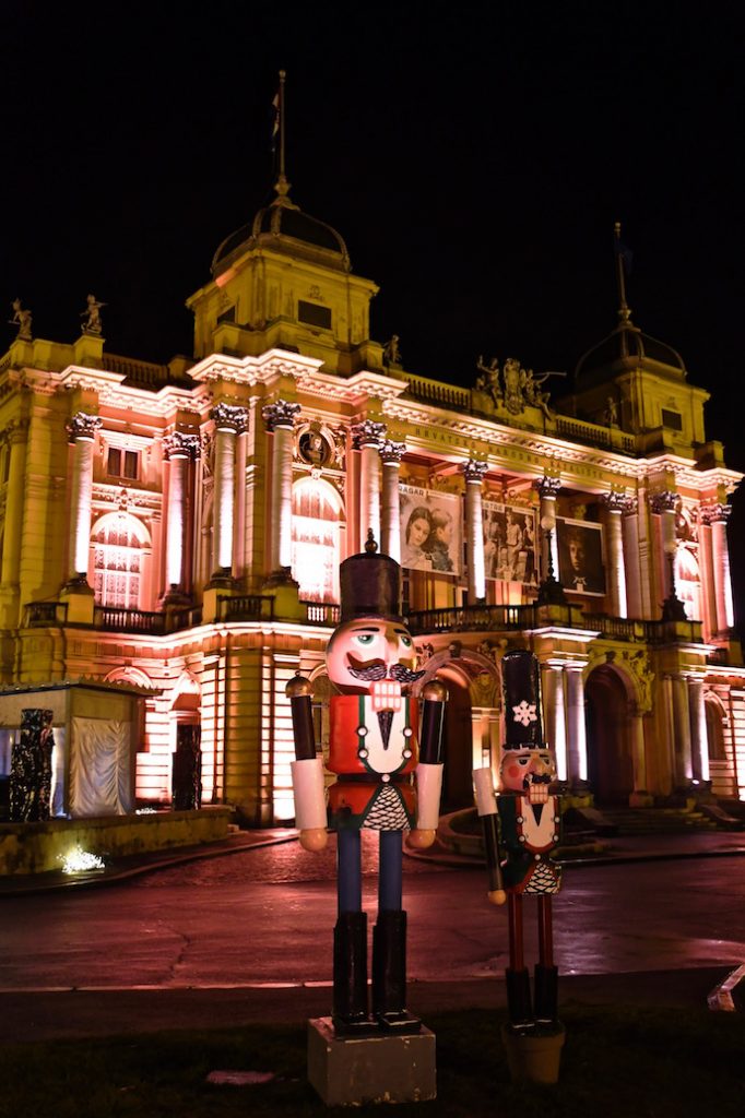
[[[375,908],[375,851],[366,850]],[[555,907],[565,975],[734,967],[745,959],[742,859],[567,869]],[[161,870],[103,890],[4,898],[0,992],[328,983],[333,852],[296,843]],[[483,871],[406,860],[409,978],[506,965]],[[529,903],[529,902],[528,902]],[[532,920],[528,920],[532,938]]]

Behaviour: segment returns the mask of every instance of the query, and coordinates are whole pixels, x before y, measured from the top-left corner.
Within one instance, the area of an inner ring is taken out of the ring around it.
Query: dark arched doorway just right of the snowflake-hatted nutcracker
[[[594,669],[585,683],[587,778],[596,804],[626,804],[633,792],[629,695],[610,664]]]

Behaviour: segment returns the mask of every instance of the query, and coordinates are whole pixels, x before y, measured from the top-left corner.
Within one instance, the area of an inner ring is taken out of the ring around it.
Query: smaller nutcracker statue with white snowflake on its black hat
[[[543,741],[538,661],[531,652],[502,659],[506,741],[500,765],[501,790],[494,797],[490,768],[473,774],[489,869],[489,900],[508,904],[509,1032],[515,1036],[550,1036],[563,1041],[557,1016],[558,969],[554,965],[551,897],[562,868],[553,854],[559,842],[559,799],[551,790],[556,762]],[[538,903],[538,963],[534,998],[525,965],[522,898]]]

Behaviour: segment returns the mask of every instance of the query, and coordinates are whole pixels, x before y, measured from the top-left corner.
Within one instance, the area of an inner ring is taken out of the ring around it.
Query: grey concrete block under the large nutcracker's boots
[[[419,1102],[437,1093],[435,1035],[338,1040],[331,1017],[308,1022],[308,1078],[327,1106]]]

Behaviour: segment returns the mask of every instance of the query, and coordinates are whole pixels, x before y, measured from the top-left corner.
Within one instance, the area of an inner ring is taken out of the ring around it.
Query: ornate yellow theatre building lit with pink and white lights
[[[570,391],[478,341],[471,388],[409,372],[396,338],[369,340],[376,291],[281,183],[188,301],[194,358],[111,354],[97,316],[72,344],[21,325],[0,362],[2,689],[134,689],[138,804],[171,802],[199,741],[202,803],[290,821],[285,684],[313,681],[326,748],[339,563],[371,532],[402,563],[422,683],[447,688],[444,809],[497,765],[513,647],[540,661],[567,790],[744,800],[741,475],[707,392],[622,284]]]

